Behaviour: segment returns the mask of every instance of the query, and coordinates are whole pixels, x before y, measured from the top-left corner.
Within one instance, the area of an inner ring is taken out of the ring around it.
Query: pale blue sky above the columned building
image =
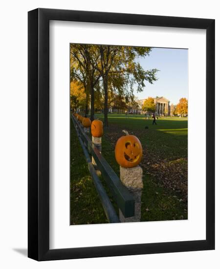
[[[145,70],[160,70],[154,84],[145,82],[142,92],[134,91],[138,99],[164,96],[174,105],[182,97],[188,99],[188,49],[152,48],[150,56],[138,58],[137,61]]]

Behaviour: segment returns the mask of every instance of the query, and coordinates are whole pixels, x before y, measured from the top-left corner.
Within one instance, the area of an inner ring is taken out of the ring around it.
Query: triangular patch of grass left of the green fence
[[[70,224],[108,223],[70,119]]]

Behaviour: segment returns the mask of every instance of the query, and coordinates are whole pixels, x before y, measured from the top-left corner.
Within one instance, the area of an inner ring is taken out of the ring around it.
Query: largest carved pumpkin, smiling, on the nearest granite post
[[[126,135],[121,136],[115,145],[116,161],[122,167],[135,167],[140,163],[143,153],[140,140],[125,130],[123,132]]]

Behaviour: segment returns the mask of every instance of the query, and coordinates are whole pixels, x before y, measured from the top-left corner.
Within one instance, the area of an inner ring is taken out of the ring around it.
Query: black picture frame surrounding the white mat
[[[206,29],[206,240],[49,249],[49,21]],[[28,257],[60,260],[215,248],[215,20],[38,8],[28,12]]]

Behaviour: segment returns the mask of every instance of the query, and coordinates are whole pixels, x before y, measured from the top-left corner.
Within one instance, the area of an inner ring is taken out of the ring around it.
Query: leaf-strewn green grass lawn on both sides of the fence
[[[96,117],[104,120],[103,114]],[[123,135],[123,129],[136,135],[143,146],[141,221],[187,219],[188,121],[167,117],[156,122],[157,125],[152,125],[152,120],[142,115],[109,114],[109,127],[104,129],[102,138],[102,155],[119,176],[115,143]],[[107,223],[72,122],[70,126],[70,223]],[[107,192],[110,196],[108,189]]]

